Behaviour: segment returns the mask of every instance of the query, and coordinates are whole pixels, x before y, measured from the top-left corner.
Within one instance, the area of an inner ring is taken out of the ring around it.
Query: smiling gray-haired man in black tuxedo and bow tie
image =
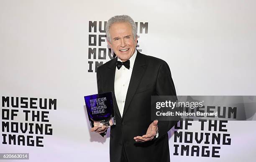
[[[151,96],[176,96],[168,64],[136,50],[137,28],[128,15],[110,18],[107,41],[116,58],[97,69],[98,93],[113,92],[116,125],[110,162],[169,162],[167,132],[177,121],[152,121]],[[108,127],[93,127],[103,133]]]

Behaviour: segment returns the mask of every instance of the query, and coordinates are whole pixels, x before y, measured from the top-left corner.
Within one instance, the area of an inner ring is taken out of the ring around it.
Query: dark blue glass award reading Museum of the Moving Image
[[[92,127],[115,125],[115,110],[112,92],[84,96],[89,122]],[[107,133],[101,133],[102,137]]]

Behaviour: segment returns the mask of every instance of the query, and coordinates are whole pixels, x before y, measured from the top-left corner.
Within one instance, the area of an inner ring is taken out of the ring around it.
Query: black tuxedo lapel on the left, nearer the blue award
[[[114,109],[115,109],[115,112],[116,114],[118,115],[118,117],[120,119],[122,119],[121,117],[121,114],[120,114],[120,111],[118,109],[118,104],[116,102],[116,99],[115,99],[115,69],[116,69],[116,61],[117,61],[117,58],[114,58],[114,60],[112,61],[112,63],[110,63],[108,65],[108,68],[109,68],[109,72],[108,72],[108,79],[107,79],[107,84],[108,85],[108,92],[113,92],[113,101],[114,101]]]

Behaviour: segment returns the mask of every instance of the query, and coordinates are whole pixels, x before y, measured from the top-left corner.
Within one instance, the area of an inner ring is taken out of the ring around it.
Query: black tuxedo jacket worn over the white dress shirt
[[[120,162],[125,148],[128,162],[169,162],[167,132],[177,121],[159,121],[159,137],[144,143],[133,137],[146,134],[151,124],[151,96],[176,95],[168,64],[137,53],[128,87],[123,117],[115,99],[114,81],[117,58],[97,69],[98,93],[113,92],[116,125],[110,129],[110,162]]]

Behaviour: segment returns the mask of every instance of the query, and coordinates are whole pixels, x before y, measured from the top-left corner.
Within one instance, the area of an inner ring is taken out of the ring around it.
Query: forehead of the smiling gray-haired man
[[[114,23],[110,27],[111,38],[127,34],[132,34],[132,27],[129,23]]]

